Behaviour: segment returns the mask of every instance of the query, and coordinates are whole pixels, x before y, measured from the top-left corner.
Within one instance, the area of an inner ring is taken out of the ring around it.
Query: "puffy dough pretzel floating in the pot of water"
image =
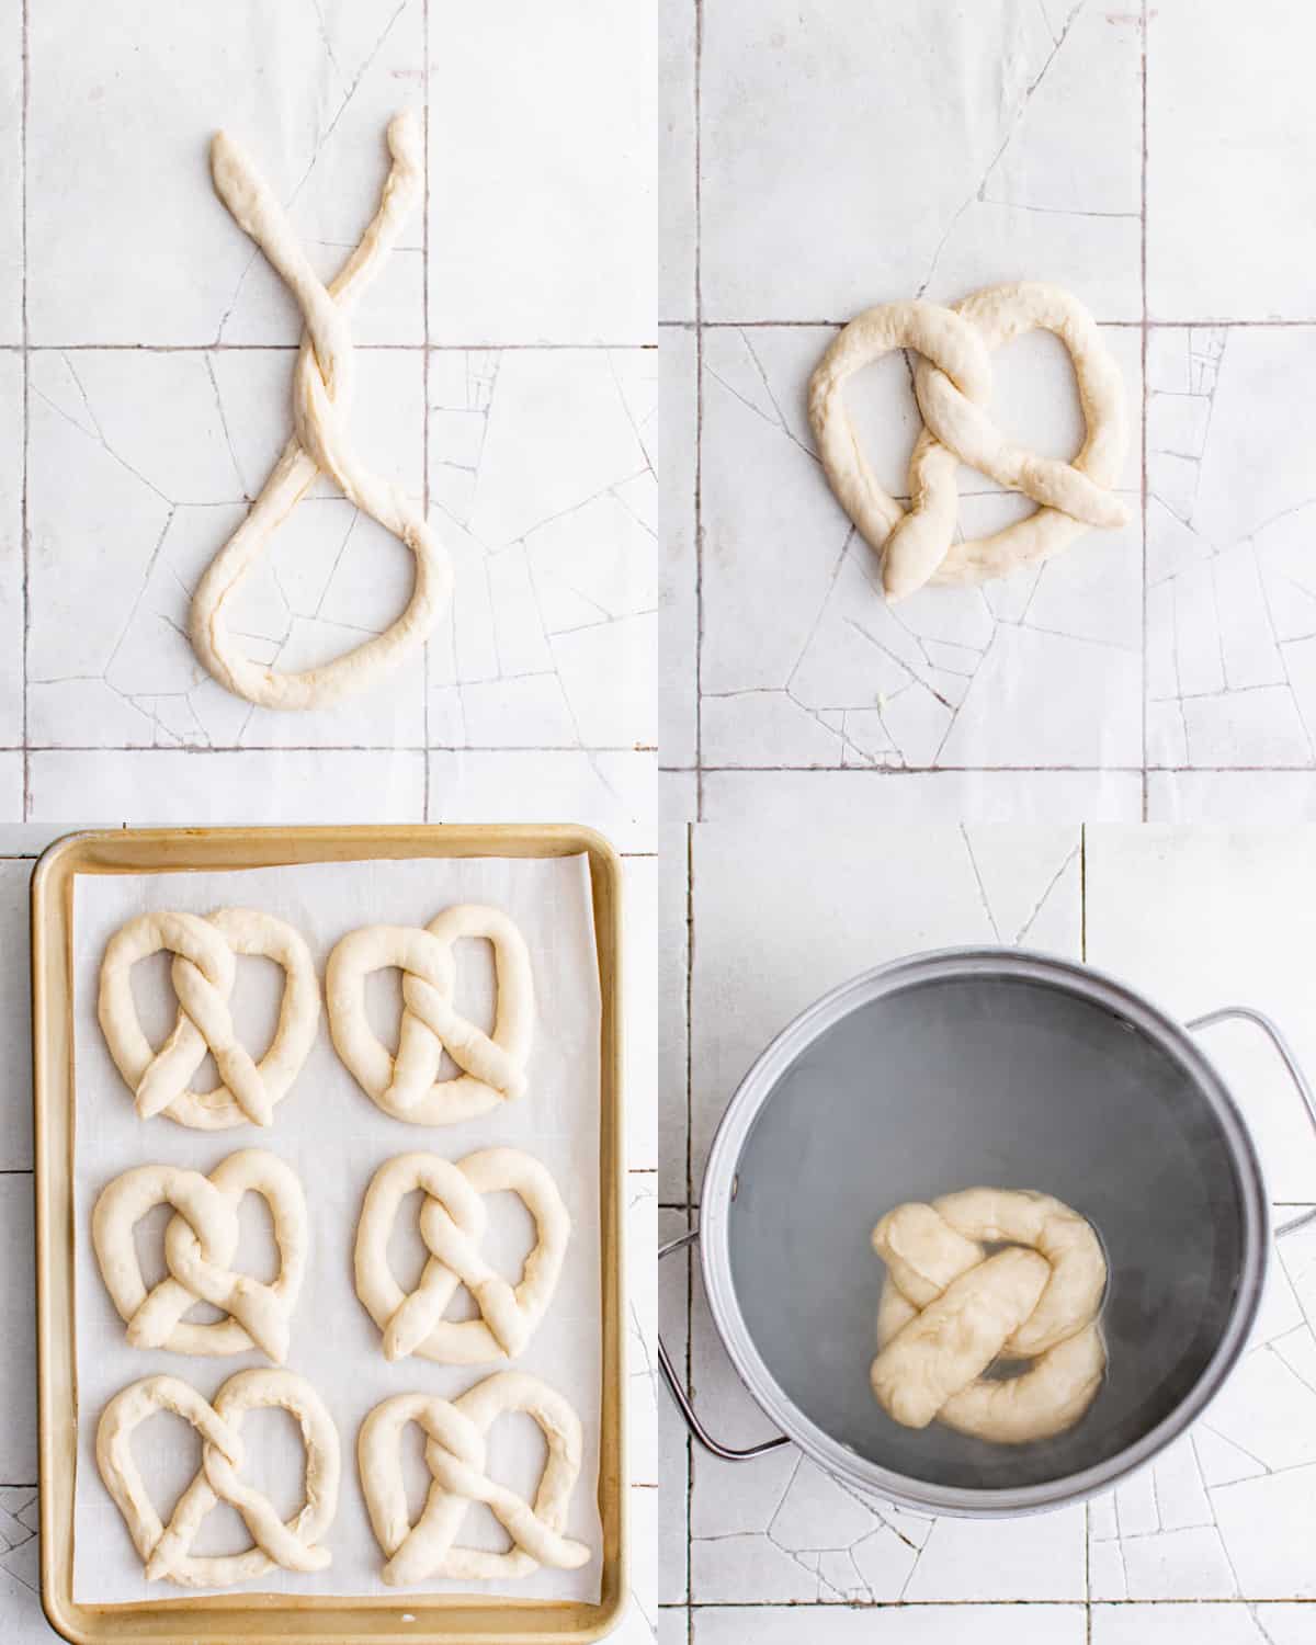
[[[989,1253],[984,1245],[1003,1250]],[[897,1206],[873,1229],[887,1263],[872,1387],[906,1428],[933,1418],[999,1444],[1063,1433],[1105,1372],[1101,1240],[1050,1194],[967,1188]],[[984,1372],[1031,1360],[1015,1377]]]

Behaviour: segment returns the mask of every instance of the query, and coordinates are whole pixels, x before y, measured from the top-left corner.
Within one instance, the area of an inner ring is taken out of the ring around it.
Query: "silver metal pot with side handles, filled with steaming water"
[[[1270,1250],[1262,1168],[1219,1069],[1191,1038],[1265,1031],[1260,1012],[1181,1025],[1087,966],[1018,949],[920,954],[834,989],[742,1079],[709,1153],[699,1232],[717,1331],[781,1438],[850,1485],[924,1513],[1005,1517],[1077,1502],[1201,1415],[1244,1349]],[[1068,1433],[995,1446],[893,1423],[869,1388],[883,1268],[869,1234],[906,1199],[1036,1188],[1101,1234],[1105,1383]]]

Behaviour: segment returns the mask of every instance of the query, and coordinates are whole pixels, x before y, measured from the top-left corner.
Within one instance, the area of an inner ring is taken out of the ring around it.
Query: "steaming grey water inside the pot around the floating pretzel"
[[[1105,1245],[1105,1383],[1053,1439],[901,1428],[869,1388],[873,1224],[977,1184],[1054,1194]],[[1166,1048],[1068,989],[987,975],[903,987],[818,1036],[762,1104],[727,1212],[737,1301],[781,1390],[860,1457],[967,1489],[1061,1479],[1170,1416],[1235,1308],[1244,1227],[1221,1122]]]

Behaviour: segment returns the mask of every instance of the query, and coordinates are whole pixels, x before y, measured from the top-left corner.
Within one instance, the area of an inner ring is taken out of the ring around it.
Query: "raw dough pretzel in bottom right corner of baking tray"
[[[487,1474],[485,1434],[505,1411],[533,1416],[548,1444],[533,1505]],[[419,1423],[428,1436],[424,1459],[433,1476],[415,1525],[401,1477],[401,1431],[408,1423]],[[584,1543],[563,1536],[581,1472],[581,1420],[561,1393],[536,1377],[502,1370],[456,1400],[398,1393],[362,1423],[357,1464],[375,1540],[388,1556],[383,1581],[395,1587],[429,1576],[495,1582],[530,1576],[543,1564],[571,1571],[591,1558]],[[472,1502],[487,1504],[512,1538],[512,1550],[456,1546]]]

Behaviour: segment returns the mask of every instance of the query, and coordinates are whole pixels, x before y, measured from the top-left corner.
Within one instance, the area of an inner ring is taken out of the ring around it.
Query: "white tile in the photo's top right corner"
[[[1235,26],[1226,0],[1148,12],[1147,296],[1156,319],[1313,319],[1316,161],[1304,7],[1262,0]],[[1239,87],[1255,94],[1239,95]],[[1227,222],[1219,243],[1207,227]]]

